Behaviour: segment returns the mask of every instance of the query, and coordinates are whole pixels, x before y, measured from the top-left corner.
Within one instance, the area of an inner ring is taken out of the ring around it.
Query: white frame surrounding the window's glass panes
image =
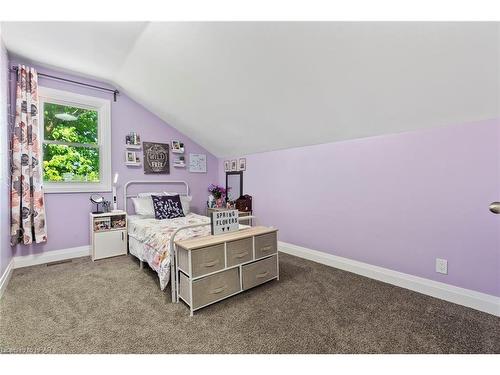
[[[40,102],[39,139],[43,154],[44,105],[46,102],[97,111],[99,148],[99,182],[50,182],[44,181],[45,193],[87,193],[111,191],[111,102],[106,99],[75,94],[69,91],[39,87]],[[43,155],[42,155],[43,160]],[[43,174],[43,166],[42,166]]]

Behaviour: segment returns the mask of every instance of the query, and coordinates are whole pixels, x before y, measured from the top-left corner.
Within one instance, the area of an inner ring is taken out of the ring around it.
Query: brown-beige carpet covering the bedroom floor
[[[500,353],[500,318],[281,254],[273,281],[195,313],[137,261],[14,271],[2,353]]]

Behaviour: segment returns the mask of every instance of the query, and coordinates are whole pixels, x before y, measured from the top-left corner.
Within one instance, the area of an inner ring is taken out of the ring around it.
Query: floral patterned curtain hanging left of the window
[[[12,132],[12,245],[47,241],[38,134],[38,75],[20,65]]]

